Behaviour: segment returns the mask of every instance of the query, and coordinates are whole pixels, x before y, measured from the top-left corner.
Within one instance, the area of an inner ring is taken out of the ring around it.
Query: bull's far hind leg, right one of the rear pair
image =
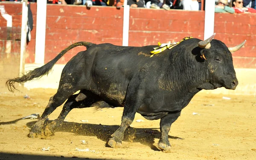
[[[57,119],[47,124],[44,134],[49,136],[55,132],[55,128],[62,125],[65,117],[73,108],[87,108],[90,107],[94,102],[98,101],[96,97],[79,93],[71,96],[62,108],[62,111]]]

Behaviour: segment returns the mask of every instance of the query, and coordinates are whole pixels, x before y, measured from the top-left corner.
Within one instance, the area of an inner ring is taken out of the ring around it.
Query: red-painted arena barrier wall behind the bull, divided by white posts
[[[21,22],[21,4],[0,5],[4,5],[8,14],[13,15],[13,22],[16,19]],[[33,63],[35,59],[36,3],[31,4],[31,9],[34,29],[32,40],[26,47],[26,63]],[[2,30],[6,24],[3,17],[0,17],[0,21]],[[122,45],[122,23],[123,9],[101,6],[87,9],[85,6],[48,4],[45,63],[77,41]],[[16,26],[20,27],[20,24]],[[215,32],[215,39],[223,41],[228,47],[246,39],[245,47],[233,54],[234,66],[256,68],[256,14],[215,14]],[[0,32],[0,47],[3,48],[5,38],[2,35]],[[186,36],[204,38],[204,11],[130,9],[129,46],[180,41]],[[58,63],[65,64],[81,50],[85,50],[85,47],[70,50]]]

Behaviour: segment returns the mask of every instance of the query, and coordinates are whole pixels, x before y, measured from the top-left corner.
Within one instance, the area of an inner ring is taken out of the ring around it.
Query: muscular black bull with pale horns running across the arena
[[[240,49],[245,41],[228,48],[221,41],[212,40],[214,35],[205,41],[184,40],[151,58],[150,51],[156,46],[122,47],[78,42],[44,66],[9,79],[6,85],[13,91],[15,82],[22,84],[40,78],[48,74],[68,50],[85,46],[87,50],[79,52],[64,67],[57,93],[50,98],[29,136],[52,134],[73,108],[122,106],[122,123],[108,142],[111,147],[121,147],[124,131],[137,112],[146,119],[160,119],[158,147],[170,151],[170,127],[196,93],[218,87],[234,90],[238,84],[231,52]],[[73,95],[78,90],[80,93]],[[60,116],[44,128],[47,116],[66,99]]]

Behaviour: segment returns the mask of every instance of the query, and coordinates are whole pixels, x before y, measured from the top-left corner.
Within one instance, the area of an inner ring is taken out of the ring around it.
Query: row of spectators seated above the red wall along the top
[[[0,0],[0,1],[22,1],[22,0]],[[36,2],[37,0],[28,0]],[[205,2],[205,0],[204,0]],[[91,6],[116,6],[120,9],[124,5],[124,0],[47,0],[52,4],[72,4]],[[151,9],[183,9],[190,11],[201,10],[201,0],[127,0],[127,4],[132,8]],[[216,13],[256,13],[256,0],[215,0]]]

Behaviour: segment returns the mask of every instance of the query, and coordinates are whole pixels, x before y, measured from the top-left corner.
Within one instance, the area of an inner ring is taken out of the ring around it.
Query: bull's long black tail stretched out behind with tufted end
[[[34,70],[30,70],[27,74],[23,75],[22,77],[17,77],[15,79],[9,79],[6,81],[6,87],[8,87],[9,91],[13,92],[16,88],[14,86],[15,82],[24,84],[26,81],[30,81],[32,79],[40,79],[44,75],[48,75],[49,71],[52,69],[53,65],[70,49],[77,47],[77,46],[85,46],[86,48],[92,46],[93,44],[90,42],[77,42],[75,44],[71,44],[69,47],[62,50],[52,61],[49,61],[42,67],[36,68]]]

